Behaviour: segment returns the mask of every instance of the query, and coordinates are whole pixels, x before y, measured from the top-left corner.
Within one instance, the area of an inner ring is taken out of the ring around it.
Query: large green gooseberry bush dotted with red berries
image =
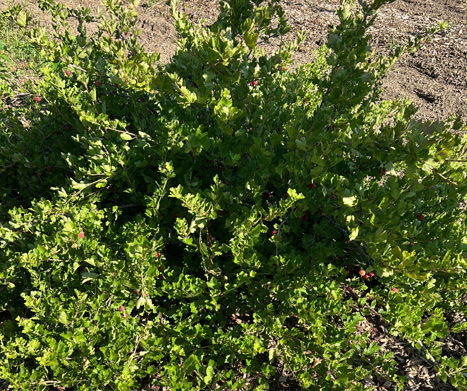
[[[0,378],[267,389],[280,368],[304,390],[368,376],[401,390],[357,332],[371,315],[465,388],[467,361],[439,339],[467,328],[466,127],[380,99],[390,67],[445,26],[376,56],[366,30],[388,2],[341,0],[292,71],[304,32],[258,49],[290,30],[279,1],[224,1],[212,25],[171,3],[178,46],[161,64],[138,43],[137,0],[96,14],[40,0],[42,67],[0,115]]]

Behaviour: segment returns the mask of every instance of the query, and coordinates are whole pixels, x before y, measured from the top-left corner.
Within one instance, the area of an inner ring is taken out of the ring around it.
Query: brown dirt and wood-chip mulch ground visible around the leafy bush
[[[50,15],[41,15],[37,0],[28,1],[27,7],[40,16],[42,25],[50,25]],[[148,51],[160,53],[161,62],[167,62],[175,51],[176,32],[170,22],[168,6],[162,1],[153,7],[142,0],[138,7],[139,27],[143,30],[140,42]],[[67,0],[70,7],[89,6],[95,10],[99,0]],[[292,25],[288,39],[294,39],[297,30],[309,30],[309,37],[295,55],[297,63],[309,62],[312,53],[326,39],[327,25],[337,21],[335,10],[339,0],[289,0],[282,3],[286,17]],[[4,7],[0,0],[0,9]],[[205,18],[215,20],[219,12],[217,0],[185,0],[180,7],[193,21]],[[388,52],[392,39],[406,42],[423,33],[439,20],[446,20],[450,27],[438,33],[431,42],[424,44],[414,54],[404,57],[388,74],[383,85],[383,99],[409,97],[419,111],[415,118],[445,120],[450,114],[461,115],[467,121],[467,2],[465,0],[396,0],[385,6],[371,28],[372,46],[377,53]],[[272,52],[274,43],[265,46]],[[452,319],[454,322],[455,320]],[[456,321],[459,321],[457,319]],[[454,390],[449,384],[436,380],[436,372],[423,353],[406,341],[391,336],[388,325],[377,316],[370,315],[360,325],[360,331],[369,332],[370,338],[392,351],[399,375],[407,377],[405,390]],[[467,333],[450,335],[440,341],[443,352],[460,358],[467,354]],[[280,368],[279,368],[280,369]],[[366,378],[365,388],[394,390],[393,383],[376,374]],[[1,386],[1,380],[0,380]],[[1,387],[0,387],[1,388]],[[146,389],[146,388],[145,388]],[[147,388],[150,390],[151,388]],[[271,379],[270,390],[300,390],[287,373],[279,371]]]

